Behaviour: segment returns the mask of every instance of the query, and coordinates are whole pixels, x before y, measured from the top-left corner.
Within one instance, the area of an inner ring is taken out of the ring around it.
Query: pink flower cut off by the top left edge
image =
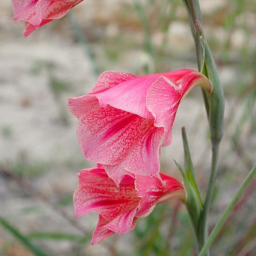
[[[24,36],[46,23],[60,19],[83,0],[11,0],[14,20],[25,21]]]

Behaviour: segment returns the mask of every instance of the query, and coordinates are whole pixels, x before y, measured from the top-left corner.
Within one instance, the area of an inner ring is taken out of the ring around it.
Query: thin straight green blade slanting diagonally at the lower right
[[[237,201],[239,200],[239,198],[241,197],[241,195],[243,194],[244,190],[249,185],[250,181],[253,179],[255,174],[256,174],[256,165],[253,166],[252,170],[249,172],[249,174],[244,179],[244,181],[243,181],[242,185],[240,186],[240,188],[238,189],[235,197],[231,201],[230,205],[227,206],[227,208],[226,208],[225,212],[223,213],[222,217],[220,218],[220,220],[217,222],[217,224],[213,228],[212,233],[210,234],[209,238],[205,242],[205,244],[202,247],[202,249],[201,249],[200,253],[198,254],[198,256],[204,256],[206,254],[207,250],[211,246],[211,244],[214,241],[215,237],[218,235],[221,227],[223,226],[223,224],[227,220],[229,213],[233,210],[233,208],[235,207]]]

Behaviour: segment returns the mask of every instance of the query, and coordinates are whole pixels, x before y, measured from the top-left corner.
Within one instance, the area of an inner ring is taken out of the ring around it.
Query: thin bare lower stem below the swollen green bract
[[[218,172],[218,156],[219,156],[219,143],[212,145],[212,163],[211,163],[211,174],[210,180],[206,192],[206,197],[204,201],[203,211],[201,211],[199,218],[199,247],[202,249],[205,240],[207,238],[207,215],[210,211],[210,206],[212,203],[212,195],[215,186],[215,180]]]

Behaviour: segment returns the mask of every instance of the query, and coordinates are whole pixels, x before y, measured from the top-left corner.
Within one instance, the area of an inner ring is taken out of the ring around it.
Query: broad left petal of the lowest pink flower
[[[140,201],[135,193],[134,182],[127,183],[132,178],[126,178],[126,184],[118,188],[106,172],[98,167],[84,169],[78,177],[78,188],[73,196],[76,217],[94,212],[107,220],[113,220],[119,214],[137,207]]]

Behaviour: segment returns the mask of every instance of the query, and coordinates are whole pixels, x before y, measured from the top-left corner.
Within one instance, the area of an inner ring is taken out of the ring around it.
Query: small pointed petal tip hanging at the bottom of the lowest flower
[[[114,231],[109,230],[108,228],[105,227],[105,225],[108,222],[109,222],[108,220],[104,219],[101,215],[99,215],[99,222],[93,232],[93,236],[92,236],[92,240],[91,240],[92,245],[99,243],[103,239],[105,239],[108,236],[111,236],[115,233]]]

